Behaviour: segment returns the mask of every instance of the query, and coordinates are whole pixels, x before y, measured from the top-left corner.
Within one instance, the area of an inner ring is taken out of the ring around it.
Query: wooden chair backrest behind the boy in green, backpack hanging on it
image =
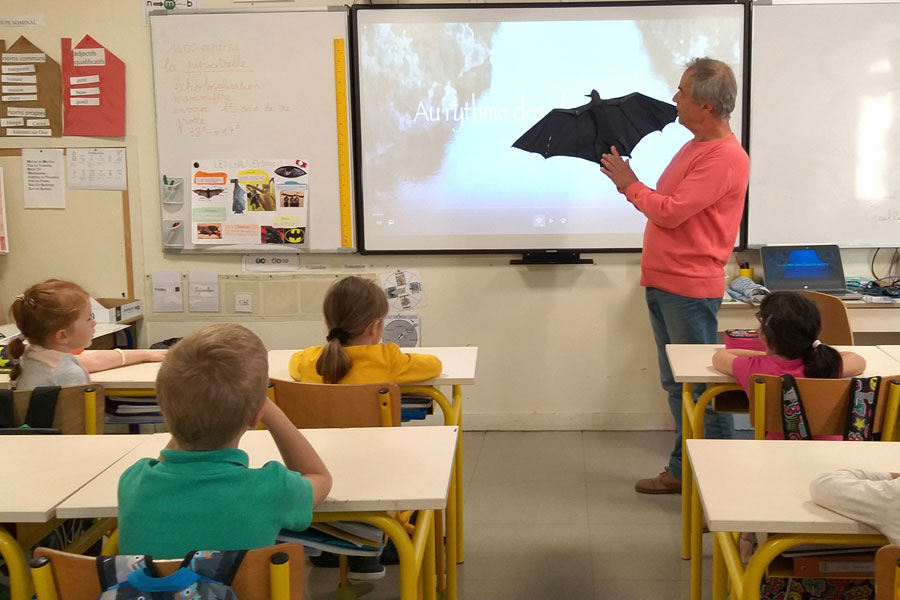
[[[286,554],[288,557],[286,570],[283,564],[274,569],[270,566],[274,555],[278,553]],[[59,600],[96,600],[100,595],[100,580],[97,576],[95,557],[69,554],[50,548],[36,548],[34,557],[42,556],[50,559],[52,579],[47,580],[44,573],[39,573],[42,569],[46,569],[46,566],[35,567],[32,565],[38,600],[52,597],[47,593],[41,593],[42,589],[45,589],[42,588],[42,585],[55,587],[56,597]],[[153,563],[161,575],[170,575],[181,566],[181,561],[182,559],[154,560]],[[289,576],[290,593],[288,595],[279,596],[273,593],[271,583],[273,571],[277,573],[274,577],[284,577],[285,574]],[[303,585],[303,546],[299,544],[278,544],[248,551],[231,583],[231,587],[241,599],[300,600],[303,598]]]

